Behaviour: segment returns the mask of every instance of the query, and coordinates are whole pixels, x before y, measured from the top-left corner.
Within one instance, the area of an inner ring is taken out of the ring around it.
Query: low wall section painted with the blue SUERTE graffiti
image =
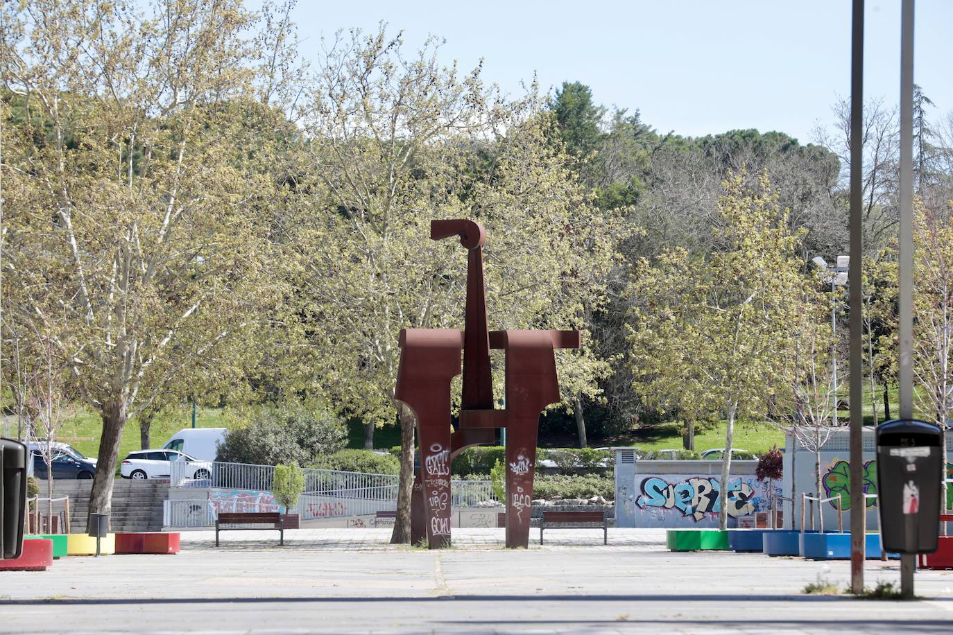
[[[721,510],[718,476],[690,474],[636,475],[635,515],[637,527],[713,527]],[[781,494],[781,483],[775,484]],[[741,516],[768,511],[768,485],[754,476],[728,479],[725,511],[728,526]]]

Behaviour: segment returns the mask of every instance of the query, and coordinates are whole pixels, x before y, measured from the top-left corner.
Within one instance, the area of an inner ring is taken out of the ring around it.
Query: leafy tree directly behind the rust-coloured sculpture
[[[439,66],[436,46],[406,55],[399,36],[379,30],[329,47],[307,121],[309,205],[286,231],[305,272],[311,347],[302,351],[319,366],[305,383],[371,426],[399,421],[398,543],[410,538],[414,457],[413,414],[394,401],[398,334],[463,326],[466,258],[451,241],[429,240],[430,221],[487,228],[488,312],[498,328],[584,328],[615,228],[587,205],[537,95],[506,101],[478,68],[461,77]],[[591,373],[604,362],[591,349],[574,353],[558,355],[560,379],[574,386],[567,394],[595,393]],[[501,398],[502,357],[494,359]]]

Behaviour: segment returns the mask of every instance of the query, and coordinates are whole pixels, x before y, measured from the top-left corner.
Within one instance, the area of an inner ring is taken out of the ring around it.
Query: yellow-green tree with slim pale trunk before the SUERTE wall
[[[786,360],[805,291],[801,234],[789,230],[767,175],[757,190],[743,184],[743,172],[722,183],[717,251],[706,258],[674,248],[652,266],[643,259],[629,289],[634,388],[659,407],[726,421],[722,511],[737,419],[763,415],[791,385]]]

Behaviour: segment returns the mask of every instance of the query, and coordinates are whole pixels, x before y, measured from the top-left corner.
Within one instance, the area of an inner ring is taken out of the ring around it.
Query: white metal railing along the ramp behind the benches
[[[211,467],[210,478],[194,479],[196,469],[188,462],[173,462],[172,486],[211,489],[210,500],[169,500],[163,507],[163,526],[208,527],[215,525],[219,511],[278,511],[269,495],[274,466],[202,462]],[[301,520],[341,518],[393,510],[397,506],[398,477],[333,469],[304,469],[305,491],[296,509]],[[188,475],[188,476],[187,476]],[[459,481],[451,484],[453,506],[497,503],[490,481]]]

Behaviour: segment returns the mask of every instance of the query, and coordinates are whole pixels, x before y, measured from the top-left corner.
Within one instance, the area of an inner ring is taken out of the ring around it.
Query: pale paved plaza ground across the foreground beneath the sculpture
[[[550,536],[551,533],[551,536]],[[904,632],[953,630],[953,571],[922,571],[922,600],[809,596],[849,563],[671,553],[664,532],[455,529],[455,547],[389,546],[389,529],[183,533],[177,555],[71,557],[0,575],[4,633]],[[552,544],[550,544],[552,538]],[[897,581],[896,563],[866,577]]]

